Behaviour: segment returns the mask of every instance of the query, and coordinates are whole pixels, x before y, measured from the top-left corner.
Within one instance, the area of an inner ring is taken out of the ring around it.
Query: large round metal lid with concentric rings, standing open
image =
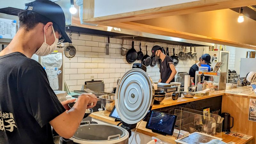
[[[116,88],[115,105],[118,116],[127,124],[140,122],[154,102],[154,83],[140,68],[127,71]]]

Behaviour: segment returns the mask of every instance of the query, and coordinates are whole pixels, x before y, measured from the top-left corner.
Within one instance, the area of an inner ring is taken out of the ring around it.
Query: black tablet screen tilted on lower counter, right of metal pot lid
[[[146,128],[168,135],[173,134],[177,116],[151,110]]]

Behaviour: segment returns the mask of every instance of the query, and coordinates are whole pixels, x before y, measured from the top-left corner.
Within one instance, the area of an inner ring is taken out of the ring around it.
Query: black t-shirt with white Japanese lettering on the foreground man
[[[53,144],[49,122],[64,111],[38,62],[20,52],[0,56],[1,144]]]

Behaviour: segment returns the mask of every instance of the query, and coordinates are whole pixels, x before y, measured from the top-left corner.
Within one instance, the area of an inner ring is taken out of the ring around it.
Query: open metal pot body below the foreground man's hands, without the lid
[[[85,122],[88,122],[88,124],[78,127],[74,136],[70,138],[70,143],[128,144],[129,142],[129,133],[122,127],[110,124],[90,124],[90,121]]]

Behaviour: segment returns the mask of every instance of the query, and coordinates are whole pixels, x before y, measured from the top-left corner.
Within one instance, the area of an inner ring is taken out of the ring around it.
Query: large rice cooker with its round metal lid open
[[[60,138],[60,144],[128,144],[131,130],[146,117],[154,102],[154,85],[148,74],[132,68],[120,79],[115,95],[115,105],[123,124],[80,125],[70,139]]]

